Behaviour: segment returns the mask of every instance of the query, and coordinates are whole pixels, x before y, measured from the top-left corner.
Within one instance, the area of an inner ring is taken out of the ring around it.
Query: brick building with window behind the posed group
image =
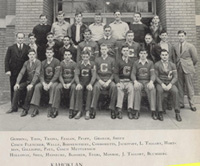
[[[177,41],[177,31],[187,32],[188,41],[193,43],[200,53],[200,1],[199,0],[0,0],[0,99],[9,92],[9,80],[4,73],[4,57],[9,45],[15,41],[16,32],[27,36],[38,24],[39,15],[48,16],[49,24],[55,20],[55,13],[63,10],[66,20],[74,22],[74,13],[83,12],[83,22],[93,21],[96,11],[103,15],[103,22],[113,20],[113,9],[122,10],[122,19],[132,22],[134,11],[140,11],[143,22],[149,23],[153,15],[161,18],[162,25],[169,33],[171,42]],[[200,63],[196,66],[195,93],[200,95]]]

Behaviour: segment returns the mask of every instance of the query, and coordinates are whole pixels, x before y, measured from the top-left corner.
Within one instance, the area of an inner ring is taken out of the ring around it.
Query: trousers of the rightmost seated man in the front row
[[[180,106],[179,106],[179,94],[178,94],[178,89],[175,85],[172,86],[172,88],[169,91],[164,91],[162,86],[160,84],[156,85],[156,90],[157,90],[157,110],[162,112],[163,111],[163,98],[164,98],[164,93],[170,94],[173,98],[173,106],[176,111],[176,113],[179,113]]]

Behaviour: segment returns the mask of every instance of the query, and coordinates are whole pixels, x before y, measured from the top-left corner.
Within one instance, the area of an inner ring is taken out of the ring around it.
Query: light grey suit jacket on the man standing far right
[[[195,64],[198,62],[197,50],[191,43],[185,42],[182,53],[180,54],[180,45],[174,45],[174,63],[183,68],[185,74],[195,73]]]

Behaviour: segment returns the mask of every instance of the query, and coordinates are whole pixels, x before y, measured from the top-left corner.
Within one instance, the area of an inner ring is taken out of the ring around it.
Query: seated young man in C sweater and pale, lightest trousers
[[[124,99],[124,91],[128,93],[128,117],[133,119],[132,109],[133,109],[133,98],[134,98],[134,88],[133,82],[131,81],[131,70],[133,66],[133,61],[129,58],[129,46],[122,46],[122,58],[118,59],[115,66],[115,82],[117,85],[117,105],[118,108],[118,118],[122,119],[122,105]]]

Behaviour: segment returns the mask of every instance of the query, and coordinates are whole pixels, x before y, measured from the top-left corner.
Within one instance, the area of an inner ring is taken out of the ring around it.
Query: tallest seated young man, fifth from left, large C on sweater
[[[95,60],[97,82],[94,85],[93,99],[91,108],[93,109],[92,118],[95,118],[97,103],[101,90],[109,90],[111,118],[116,119],[115,103],[117,98],[117,87],[113,82],[115,60],[108,56],[108,47],[101,45],[101,57]]]

